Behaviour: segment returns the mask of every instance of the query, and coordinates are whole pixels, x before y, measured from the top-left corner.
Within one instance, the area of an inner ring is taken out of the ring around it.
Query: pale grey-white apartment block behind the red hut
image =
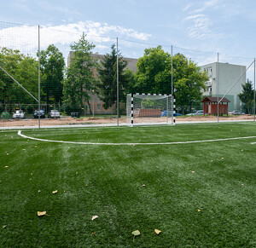
[[[207,89],[203,95],[222,97],[227,94],[225,97],[230,100],[229,111],[241,109],[238,94],[242,90],[241,84],[246,83],[246,66],[214,62],[201,66],[201,71],[207,72],[209,77],[206,83]],[[234,87],[230,89],[233,84],[235,84]]]

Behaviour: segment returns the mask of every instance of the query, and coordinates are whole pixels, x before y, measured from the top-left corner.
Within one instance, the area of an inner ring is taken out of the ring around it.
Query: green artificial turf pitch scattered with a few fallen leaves
[[[115,146],[0,131],[0,247],[256,246],[254,123],[22,135],[92,143],[255,137]]]

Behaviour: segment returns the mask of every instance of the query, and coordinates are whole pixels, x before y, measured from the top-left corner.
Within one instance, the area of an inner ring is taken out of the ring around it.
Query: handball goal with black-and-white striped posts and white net
[[[175,124],[175,95],[128,94],[126,99],[127,124]]]

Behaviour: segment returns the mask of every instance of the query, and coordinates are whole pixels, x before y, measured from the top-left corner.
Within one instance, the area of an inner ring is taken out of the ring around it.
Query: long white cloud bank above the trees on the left
[[[88,20],[70,24],[63,23],[59,26],[40,26],[40,47],[46,49],[49,44],[53,43],[67,57],[70,44],[79,41],[83,32],[90,42],[96,44],[95,51],[99,53],[106,52],[106,49],[115,43],[115,37],[132,38],[139,41],[145,41],[150,37],[147,33],[137,32],[133,29]],[[0,49],[1,47],[19,49],[23,54],[35,56],[38,51],[38,26],[9,25],[2,28],[0,30]]]

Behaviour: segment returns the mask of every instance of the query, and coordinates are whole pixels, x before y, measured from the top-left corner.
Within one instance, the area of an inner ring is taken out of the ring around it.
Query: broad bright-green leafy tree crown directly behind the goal
[[[172,94],[172,77],[178,106],[192,106],[201,101],[202,90],[208,80],[206,72],[184,55],[173,57],[160,46],[145,49],[139,58],[136,73],[137,92],[151,94]],[[173,70],[173,71],[172,71]]]

